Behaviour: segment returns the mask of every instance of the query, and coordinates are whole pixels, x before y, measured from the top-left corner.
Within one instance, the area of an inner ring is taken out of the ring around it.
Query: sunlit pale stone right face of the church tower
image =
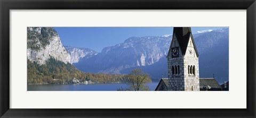
[[[195,66],[195,70],[193,68]],[[189,68],[188,68],[189,67]],[[189,39],[186,54],[184,56],[184,77],[185,77],[185,91],[199,91],[199,64],[198,57],[195,52],[191,37]]]

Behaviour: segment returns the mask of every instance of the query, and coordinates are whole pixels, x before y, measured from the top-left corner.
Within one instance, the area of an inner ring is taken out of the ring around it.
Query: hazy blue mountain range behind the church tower
[[[229,29],[193,34],[199,53],[199,77],[228,81]],[[105,47],[100,53],[88,48],[65,46],[70,62],[83,72],[127,74],[141,68],[151,78],[167,78],[167,58],[172,35],[131,37]],[[213,75],[214,74],[214,75]]]

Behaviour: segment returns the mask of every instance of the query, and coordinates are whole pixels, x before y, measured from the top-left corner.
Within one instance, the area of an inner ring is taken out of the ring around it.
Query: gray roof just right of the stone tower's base
[[[214,78],[199,78],[200,88],[221,88],[219,83]]]

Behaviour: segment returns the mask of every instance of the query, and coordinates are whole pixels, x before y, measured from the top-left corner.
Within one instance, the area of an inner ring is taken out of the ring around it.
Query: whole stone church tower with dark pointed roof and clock
[[[167,55],[169,90],[199,91],[198,52],[190,27],[174,27]]]

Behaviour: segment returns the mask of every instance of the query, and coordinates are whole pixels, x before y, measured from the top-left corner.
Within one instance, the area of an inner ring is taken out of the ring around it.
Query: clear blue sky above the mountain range
[[[191,27],[192,33],[227,27]],[[90,48],[101,52],[104,47],[123,43],[130,37],[171,35],[173,27],[54,27],[65,46]]]

